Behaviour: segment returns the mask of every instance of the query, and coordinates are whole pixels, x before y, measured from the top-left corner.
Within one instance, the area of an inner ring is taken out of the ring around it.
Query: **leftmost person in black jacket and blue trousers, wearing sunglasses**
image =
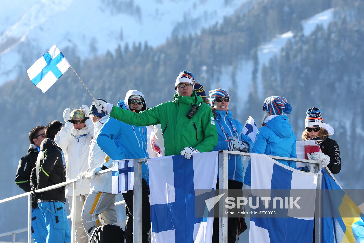
[[[31,170],[35,167],[37,156],[40,151],[40,143],[44,140],[44,126],[37,126],[29,132],[30,146],[28,153],[24,155],[20,161],[16,171],[15,183],[25,192],[31,189]],[[36,180],[33,180],[36,184]],[[38,208],[37,198],[32,196],[32,237],[37,243],[45,243],[47,238],[47,226],[43,220],[43,216]]]

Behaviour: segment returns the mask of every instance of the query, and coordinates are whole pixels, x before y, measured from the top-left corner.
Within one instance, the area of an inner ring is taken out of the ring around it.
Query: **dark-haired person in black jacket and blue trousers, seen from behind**
[[[61,149],[54,142],[54,137],[63,123],[51,121],[45,130],[46,139],[40,144],[36,162],[37,189],[56,185],[66,181],[66,170],[63,164]],[[47,225],[47,243],[71,242],[70,225],[68,224],[64,203],[65,187],[43,193],[36,193],[38,206]]]

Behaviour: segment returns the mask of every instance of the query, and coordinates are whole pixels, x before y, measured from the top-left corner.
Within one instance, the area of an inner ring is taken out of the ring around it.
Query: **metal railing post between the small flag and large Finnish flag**
[[[134,159],[134,243],[142,243],[142,165],[143,160]]]

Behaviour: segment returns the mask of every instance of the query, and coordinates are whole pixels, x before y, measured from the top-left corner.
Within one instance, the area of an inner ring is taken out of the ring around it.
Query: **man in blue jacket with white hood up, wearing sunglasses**
[[[124,100],[118,106],[128,111],[140,112],[146,109],[144,95],[138,90],[129,90]],[[122,121],[109,117],[101,128],[97,143],[101,150],[112,160],[148,158],[147,128],[128,125]],[[148,242],[150,230],[150,202],[148,197],[149,174],[147,166],[143,163],[142,187],[142,242]],[[126,211],[125,241],[133,242],[133,197],[134,191],[123,193]]]

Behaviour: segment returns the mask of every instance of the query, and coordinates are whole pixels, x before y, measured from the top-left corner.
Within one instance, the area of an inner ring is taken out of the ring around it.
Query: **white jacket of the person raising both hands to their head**
[[[88,169],[88,153],[94,136],[94,124],[91,119],[86,119],[85,125],[81,130],[76,130],[72,123],[66,122],[54,139],[64,153],[67,181],[77,178],[79,173]],[[90,180],[82,180],[77,184],[76,195],[88,193],[90,193]],[[66,196],[72,196],[72,185],[66,186]]]

